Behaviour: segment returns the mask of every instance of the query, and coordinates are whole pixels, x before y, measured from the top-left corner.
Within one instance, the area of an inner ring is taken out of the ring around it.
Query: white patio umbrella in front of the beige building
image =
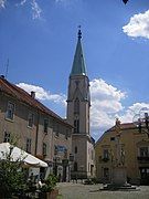
[[[31,154],[22,150],[21,148],[10,145],[9,143],[1,143],[0,144],[0,160],[6,159],[7,156],[10,155],[11,161],[22,161],[24,166],[31,167],[47,167],[45,161],[34,157]]]

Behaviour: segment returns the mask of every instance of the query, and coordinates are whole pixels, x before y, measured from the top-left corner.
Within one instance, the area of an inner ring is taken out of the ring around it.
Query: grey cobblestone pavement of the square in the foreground
[[[102,185],[60,182],[57,199],[149,199],[149,186],[132,191],[100,191]]]

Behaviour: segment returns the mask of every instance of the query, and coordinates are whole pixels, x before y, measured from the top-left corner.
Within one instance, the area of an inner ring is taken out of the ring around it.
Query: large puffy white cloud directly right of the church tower
[[[115,124],[116,114],[124,109],[121,100],[126,93],[107,84],[102,78],[91,82],[91,128],[95,136]]]

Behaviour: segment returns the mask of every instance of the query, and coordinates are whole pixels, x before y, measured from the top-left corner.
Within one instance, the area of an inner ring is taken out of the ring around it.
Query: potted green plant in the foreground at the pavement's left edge
[[[58,190],[55,189],[57,182],[57,178],[54,175],[49,175],[42,187],[41,196],[42,199],[56,199],[58,195]]]

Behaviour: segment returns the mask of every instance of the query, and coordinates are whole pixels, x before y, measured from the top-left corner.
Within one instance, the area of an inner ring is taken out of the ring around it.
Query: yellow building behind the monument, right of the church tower
[[[127,170],[128,182],[149,184],[149,138],[139,133],[132,123],[120,124],[119,144],[121,163]],[[96,176],[109,182],[117,157],[116,126],[103,134],[95,146]]]

